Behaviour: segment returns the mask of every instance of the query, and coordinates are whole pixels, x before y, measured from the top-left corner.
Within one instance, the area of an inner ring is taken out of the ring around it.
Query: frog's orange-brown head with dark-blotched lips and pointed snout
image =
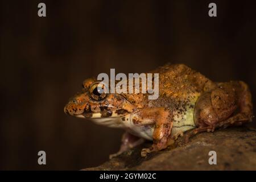
[[[82,92],[69,100],[64,112],[103,124],[114,120],[120,121],[136,108],[123,94],[107,93],[104,85],[99,86],[99,84],[100,82],[94,78],[85,80],[82,84]]]

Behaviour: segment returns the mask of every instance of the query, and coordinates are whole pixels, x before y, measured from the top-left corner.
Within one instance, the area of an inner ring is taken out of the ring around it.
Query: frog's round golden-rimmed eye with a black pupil
[[[100,83],[94,83],[90,86],[90,96],[96,101],[104,100],[107,96],[106,86]]]

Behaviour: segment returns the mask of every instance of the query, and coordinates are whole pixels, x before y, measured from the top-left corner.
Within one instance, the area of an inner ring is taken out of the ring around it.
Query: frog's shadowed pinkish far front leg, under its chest
[[[133,148],[135,146],[138,146],[139,144],[142,144],[143,142],[144,142],[143,138],[135,137],[134,135],[126,131],[126,133],[124,133],[122,136],[122,144],[119,151],[115,154],[110,154],[109,159],[112,159],[122,154],[123,152],[129,150],[130,148]]]

